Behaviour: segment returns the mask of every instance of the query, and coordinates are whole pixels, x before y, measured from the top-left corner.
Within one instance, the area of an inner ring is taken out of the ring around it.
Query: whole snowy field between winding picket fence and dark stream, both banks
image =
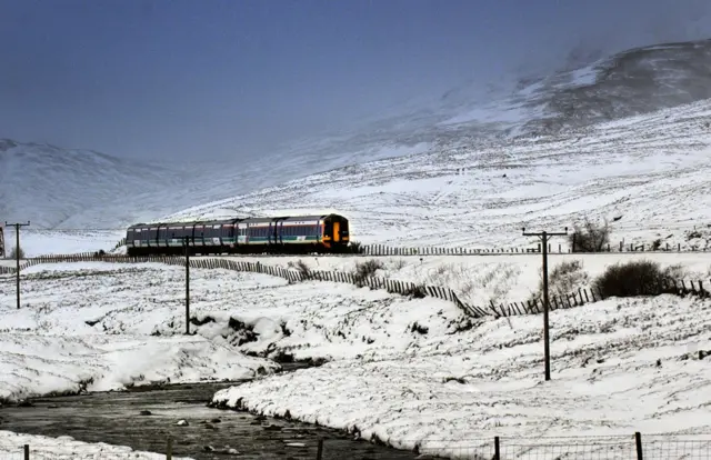
[[[214,401],[440,453],[487,453],[481,446],[494,436],[711,429],[711,300],[610,299],[554,311],[553,380],[543,383],[540,316],[472,323],[434,299],[191,274],[189,337],[180,267],[32,267],[19,311],[13,279],[1,278],[2,396],[257,376]],[[280,376],[254,357],[284,354],[328,362]]]

